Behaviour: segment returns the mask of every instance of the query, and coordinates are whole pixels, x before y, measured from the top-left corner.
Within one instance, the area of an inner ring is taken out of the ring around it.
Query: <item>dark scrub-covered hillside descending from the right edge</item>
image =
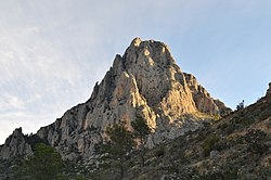
[[[271,83],[267,95],[255,104],[149,150],[145,166],[141,166],[140,155],[131,155],[125,163],[124,179],[270,180],[270,110]],[[118,179],[117,170],[100,165],[86,177]]]

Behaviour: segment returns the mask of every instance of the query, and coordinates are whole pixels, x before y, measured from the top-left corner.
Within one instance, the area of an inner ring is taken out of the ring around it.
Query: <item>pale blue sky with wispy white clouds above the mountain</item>
[[[271,81],[268,0],[1,0],[0,143],[85,102],[134,37],[166,42],[183,72],[235,108]]]

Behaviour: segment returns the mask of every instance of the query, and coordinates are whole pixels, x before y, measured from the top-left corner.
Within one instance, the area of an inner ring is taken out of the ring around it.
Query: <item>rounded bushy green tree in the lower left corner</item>
[[[60,153],[43,143],[34,146],[34,156],[23,163],[20,171],[27,179],[56,180],[62,172],[63,162]]]

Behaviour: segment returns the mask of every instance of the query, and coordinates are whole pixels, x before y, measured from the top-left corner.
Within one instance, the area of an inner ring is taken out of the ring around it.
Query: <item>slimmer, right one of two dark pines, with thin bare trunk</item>
[[[142,159],[142,166],[145,165],[145,144],[146,144],[146,136],[151,133],[151,128],[147,126],[146,121],[138,116],[134,121],[131,123],[133,128],[133,134],[139,138],[140,145],[139,149],[141,150],[140,156]]]

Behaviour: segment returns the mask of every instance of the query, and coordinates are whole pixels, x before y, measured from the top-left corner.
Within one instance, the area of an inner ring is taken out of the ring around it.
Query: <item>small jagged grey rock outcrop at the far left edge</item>
[[[15,129],[0,149],[0,159],[33,154],[30,145],[26,142],[22,128]]]

